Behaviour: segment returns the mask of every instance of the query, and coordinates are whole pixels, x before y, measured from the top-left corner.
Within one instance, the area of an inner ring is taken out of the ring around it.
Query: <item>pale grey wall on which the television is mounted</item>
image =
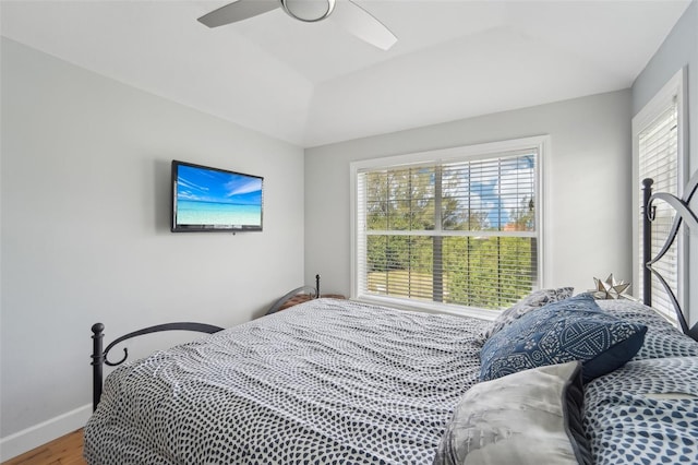
[[[3,38],[1,148],[2,460],[82,426],[93,323],[230,326],[303,283],[300,147]],[[264,176],[264,231],[171,234],[172,158]]]

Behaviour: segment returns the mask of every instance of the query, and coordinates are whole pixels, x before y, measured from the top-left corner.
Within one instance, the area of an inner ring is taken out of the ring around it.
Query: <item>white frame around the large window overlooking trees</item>
[[[530,138],[521,138],[498,142],[489,142],[483,144],[464,145],[449,148],[438,148],[433,151],[408,153],[402,155],[394,155],[380,158],[370,158],[352,162],[350,164],[350,228],[351,228],[351,291],[350,297],[356,300],[368,303],[388,305],[390,307],[402,308],[406,310],[418,310],[432,313],[452,313],[459,315],[476,317],[485,320],[492,320],[500,313],[496,310],[479,309],[473,307],[457,306],[443,302],[429,301],[409,301],[408,299],[399,299],[389,296],[375,296],[362,294],[359,289],[360,279],[358,272],[359,266],[359,208],[358,208],[358,177],[359,172],[366,169],[386,169],[405,166],[418,166],[434,163],[453,163],[457,160],[477,160],[493,157],[497,154],[506,152],[515,152],[534,148],[538,151],[538,172],[535,178],[535,196],[539,201],[537,208],[537,231],[538,231],[538,283],[537,288],[545,287],[546,274],[545,270],[551,269],[549,262],[550,245],[547,238],[547,218],[550,217],[550,204],[547,186],[547,159],[550,158],[550,135],[535,135]]]

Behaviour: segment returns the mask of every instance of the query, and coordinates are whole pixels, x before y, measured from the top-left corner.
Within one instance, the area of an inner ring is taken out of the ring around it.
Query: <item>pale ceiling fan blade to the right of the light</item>
[[[337,2],[329,19],[360,39],[383,50],[389,49],[397,41],[390,29],[351,0]]]

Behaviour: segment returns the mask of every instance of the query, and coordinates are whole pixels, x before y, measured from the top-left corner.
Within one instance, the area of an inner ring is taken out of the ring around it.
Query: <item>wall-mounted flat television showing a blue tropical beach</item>
[[[172,233],[261,231],[263,181],[172,160]]]

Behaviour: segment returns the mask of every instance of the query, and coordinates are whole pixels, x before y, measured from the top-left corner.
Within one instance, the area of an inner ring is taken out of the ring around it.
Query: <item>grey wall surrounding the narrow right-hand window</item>
[[[698,0],[678,20],[660,49],[633,84],[633,116],[682,68],[688,68],[688,172],[698,170]],[[694,200],[698,208],[698,199]],[[698,233],[691,231],[688,260],[690,320],[698,323]]]

